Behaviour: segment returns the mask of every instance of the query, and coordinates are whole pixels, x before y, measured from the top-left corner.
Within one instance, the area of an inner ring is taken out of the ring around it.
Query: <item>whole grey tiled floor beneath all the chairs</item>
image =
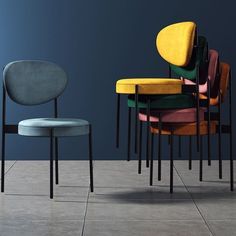
[[[200,236],[236,235],[236,192],[229,191],[229,162],[175,161],[174,194],[169,194],[169,162],[162,181],[149,187],[149,170],[137,162],[96,161],[95,192],[89,192],[88,162],[61,161],[60,185],[50,200],[46,161],[9,161],[6,192],[0,195],[1,236]],[[236,167],[236,166],[235,166]]]

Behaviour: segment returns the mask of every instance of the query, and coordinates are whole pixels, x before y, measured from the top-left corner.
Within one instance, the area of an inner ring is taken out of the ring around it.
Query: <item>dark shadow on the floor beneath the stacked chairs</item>
[[[175,192],[175,187],[177,191]],[[189,202],[193,200],[212,201],[217,199],[236,199],[236,193],[231,192],[229,188],[212,186],[175,186],[174,192],[169,193],[168,185],[158,186],[158,188],[148,190],[133,189],[130,191],[116,191],[115,193],[97,193],[95,191],[93,202],[98,200],[109,200],[117,203],[142,203],[142,204],[169,204],[170,202]],[[164,190],[165,188],[165,190]],[[119,188],[118,188],[119,189]],[[126,188],[127,189],[127,188]],[[191,190],[189,190],[191,189]],[[98,203],[100,201],[97,201]]]

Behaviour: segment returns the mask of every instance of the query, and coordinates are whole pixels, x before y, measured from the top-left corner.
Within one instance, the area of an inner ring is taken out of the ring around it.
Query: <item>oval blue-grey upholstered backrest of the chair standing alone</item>
[[[9,97],[21,105],[39,105],[61,95],[67,75],[58,65],[47,61],[14,61],[3,70]]]

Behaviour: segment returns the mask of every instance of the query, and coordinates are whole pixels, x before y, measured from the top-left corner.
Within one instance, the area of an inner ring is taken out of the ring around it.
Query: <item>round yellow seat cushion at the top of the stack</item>
[[[135,94],[138,85],[139,94],[180,94],[182,80],[171,78],[130,78],[116,82],[116,93]]]

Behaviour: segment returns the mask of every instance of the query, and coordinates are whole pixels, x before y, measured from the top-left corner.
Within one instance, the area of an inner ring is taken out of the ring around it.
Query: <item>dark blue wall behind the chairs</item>
[[[1,0],[0,68],[18,59],[43,59],[61,65],[69,75],[69,86],[59,100],[60,115],[83,117],[93,124],[96,159],[124,159],[127,108],[124,105],[122,110],[122,148],[116,150],[115,82],[122,77],[167,75],[167,65],[155,48],[161,28],[173,22],[195,21],[210,48],[217,49],[221,59],[236,69],[233,1],[201,2]],[[7,120],[48,116],[51,108],[52,104],[19,107],[8,101]],[[64,159],[85,158],[85,139],[61,140]],[[227,142],[225,137],[224,158],[229,153]],[[47,159],[48,146],[47,139],[8,136],[7,158]],[[186,154],[186,140],[183,147]],[[216,147],[215,140],[214,157]],[[167,146],[163,152],[167,157]]]

